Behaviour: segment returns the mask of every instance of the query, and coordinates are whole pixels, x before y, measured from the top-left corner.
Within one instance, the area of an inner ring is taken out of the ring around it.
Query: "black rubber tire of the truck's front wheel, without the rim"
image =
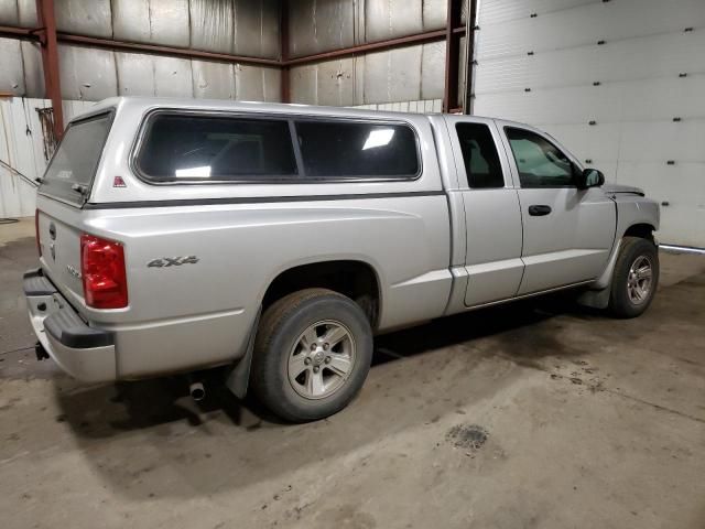
[[[653,279],[649,299],[640,304],[633,304],[627,294],[627,279],[629,268],[639,256],[647,256],[651,260]],[[659,287],[659,249],[650,239],[641,237],[625,237],[619,248],[617,262],[612,273],[612,283],[609,293],[608,311],[614,317],[637,317],[644,313],[653,301]]]

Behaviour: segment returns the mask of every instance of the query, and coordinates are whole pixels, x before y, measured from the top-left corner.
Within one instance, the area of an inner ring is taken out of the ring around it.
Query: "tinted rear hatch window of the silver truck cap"
[[[96,175],[111,121],[112,114],[109,112],[70,123],[46,168],[40,191],[83,205]]]

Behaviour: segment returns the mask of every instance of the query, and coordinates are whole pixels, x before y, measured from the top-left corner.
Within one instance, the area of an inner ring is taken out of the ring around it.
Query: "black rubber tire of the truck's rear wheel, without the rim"
[[[311,324],[335,319],[350,330],[356,344],[352,374],[329,397],[308,400],[291,387],[288,356],[293,342]],[[250,384],[257,398],[290,422],[329,417],[345,408],[365,384],[372,361],[372,331],[368,319],[349,298],[327,289],[305,289],[274,302],[262,315],[254,339]]]

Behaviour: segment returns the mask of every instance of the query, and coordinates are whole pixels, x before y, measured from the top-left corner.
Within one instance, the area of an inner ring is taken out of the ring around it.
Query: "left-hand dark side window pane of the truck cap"
[[[282,120],[156,114],[138,168],[153,182],[276,180],[296,174]]]

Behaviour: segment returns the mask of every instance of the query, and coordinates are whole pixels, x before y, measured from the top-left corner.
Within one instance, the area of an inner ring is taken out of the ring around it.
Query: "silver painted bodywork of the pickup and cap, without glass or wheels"
[[[161,108],[401,121],[417,136],[422,172],[413,181],[153,185],[134,174],[130,156],[144,116]],[[41,268],[58,290],[54,296],[91,327],[115,333],[115,346],[66,350],[44,336],[42,320],[51,309],[40,315],[36,303],[30,304],[50,355],[84,380],[235,363],[246,352],[268,287],[300,264],[354,260],[371,267],[380,290],[380,333],[557,288],[604,288],[623,233],[634,224],[659,227],[658,205],[636,193],[607,186],[522,190],[505,121],[147,98],[108,99],[90,114],[106,109],[113,109],[115,120],[87,204],[79,208],[37,196]],[[468,187],[454,128],[460,121],[489,126],[503,188]],[[115,176],[124,186],[113,186]],[[550,204],[554,214],[529,216],[528,206],[536,203]],[[50,223],[56,231],[52,241]],[[127,307],[86,306],[76,273],[82,233],[123,245]]]

